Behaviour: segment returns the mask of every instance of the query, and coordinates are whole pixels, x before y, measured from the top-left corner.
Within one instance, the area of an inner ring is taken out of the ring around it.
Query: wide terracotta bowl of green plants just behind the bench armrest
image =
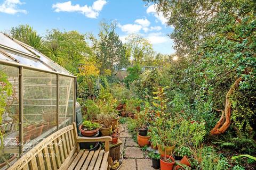
[[[84,137],[91,137],[100,129],[99,123],[83,120],[83,123],[79,126],[79,130]]]

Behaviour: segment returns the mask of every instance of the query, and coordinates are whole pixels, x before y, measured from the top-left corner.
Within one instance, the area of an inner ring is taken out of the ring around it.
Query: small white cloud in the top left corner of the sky
[[[27,13],[26,10],[20,10],[17,6],[24,3],[20,0],[5,0],[3,4],[0,4],[0,12],[7,14],[16,14],[16,13]]]

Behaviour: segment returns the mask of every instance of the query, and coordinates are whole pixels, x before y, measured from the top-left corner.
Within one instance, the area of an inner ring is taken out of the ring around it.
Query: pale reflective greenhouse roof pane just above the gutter
[[[53,71],[52,69],[50,69],[50,67],[47,67],[46,65],[44,65],[37,59],[29,59],[29,58],[19,56],[19,55],[13,54],[13,53],[9,53],[9,52],[6,52],[6,53],[11,55],[13,58],[17,59],[20,62],[20,64],[32,66],[32,67],[42,69],[42,70]]]

